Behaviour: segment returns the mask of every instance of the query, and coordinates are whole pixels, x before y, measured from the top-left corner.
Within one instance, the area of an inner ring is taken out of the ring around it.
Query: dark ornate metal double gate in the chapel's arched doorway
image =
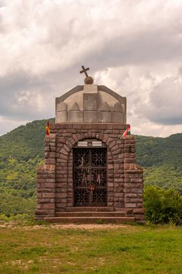
[[[107,206],[106,148],[75,148],[74,206]]]

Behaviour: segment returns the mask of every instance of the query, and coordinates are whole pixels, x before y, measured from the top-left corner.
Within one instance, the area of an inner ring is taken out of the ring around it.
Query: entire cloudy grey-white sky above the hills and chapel
[[[0,0],[0,135],[95,83],[127,97],[132,133],[182,132],[182,0]]]

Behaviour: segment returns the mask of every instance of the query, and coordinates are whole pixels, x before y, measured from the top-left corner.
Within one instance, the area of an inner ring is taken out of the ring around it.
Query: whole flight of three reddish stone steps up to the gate
[[[114,211],[110,207],[67,208],[54,217],[45,217],[44,221],[52,223],[126,223],[134,222],[134,217],[125,217],[125,211]]]

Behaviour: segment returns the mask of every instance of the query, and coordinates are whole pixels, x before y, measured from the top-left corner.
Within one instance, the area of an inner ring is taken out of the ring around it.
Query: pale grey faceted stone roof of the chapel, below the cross
[[[126,123],[126,97],[106,86],[76,86],[56,98],[56,123]]]

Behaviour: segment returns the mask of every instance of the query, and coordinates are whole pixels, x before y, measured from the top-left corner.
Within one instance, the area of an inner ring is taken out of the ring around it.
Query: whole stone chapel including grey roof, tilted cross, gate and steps
[[[85,84],[55,99],[55,124],[37,169],[35,219],[52,222],[145,222],[143,171],[127,127],[126,98]]]

